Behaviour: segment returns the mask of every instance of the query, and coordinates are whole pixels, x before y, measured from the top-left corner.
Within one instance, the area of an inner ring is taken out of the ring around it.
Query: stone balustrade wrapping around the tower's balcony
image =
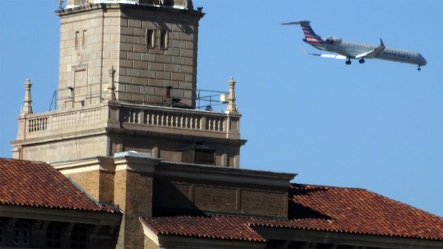
[[[202,131],[218,138],[233,138],[230,136],[232,134],[239,136],[239,116],[232,113],[122,103],[103,103],[93,107],[26,114],[19,118],[19,122],[24,124],[24,130],[19,131],[19,136],[37,138],[66,133],[69,130],[76,133],[87,131],[91,127],[105,128],[112,116],[118,122],[114,122],[114,128],[117,125],[123,130],[168,129],[171,133],[192,136],[196,136],[195,132]]]

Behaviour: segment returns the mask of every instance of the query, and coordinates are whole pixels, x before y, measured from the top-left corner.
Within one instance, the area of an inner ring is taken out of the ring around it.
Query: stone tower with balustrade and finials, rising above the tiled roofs
[[[139,151],[239,167],[245,140],[233,80],[226,111],[196,109],[201,9],[186,0],[69,0],[56,14],[58,109],[28,111],[28,82],[14,158],[57,162]]]

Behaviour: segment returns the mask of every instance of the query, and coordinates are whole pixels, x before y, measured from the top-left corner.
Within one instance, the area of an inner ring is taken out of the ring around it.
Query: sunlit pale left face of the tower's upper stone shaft
[[[120,12],[97,6],[76,11],[57,12],[61,18],[58,109],[101,102],[108,70],[118,64]]]

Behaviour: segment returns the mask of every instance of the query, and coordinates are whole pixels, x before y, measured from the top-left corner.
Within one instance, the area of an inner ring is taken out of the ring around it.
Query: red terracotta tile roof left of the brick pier
[[[51,165],[8,158],[0,158],[0,204],[117,212],[98,205]]]

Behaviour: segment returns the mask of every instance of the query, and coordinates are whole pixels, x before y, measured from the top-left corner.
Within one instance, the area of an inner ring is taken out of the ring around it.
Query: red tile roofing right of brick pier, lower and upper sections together
[[[255,226],[443,241],[443,218],[368,190],[293,184],[289,194],[287,220],[213,215],[141,221],[155,234],[256,242],[265,239]]]

